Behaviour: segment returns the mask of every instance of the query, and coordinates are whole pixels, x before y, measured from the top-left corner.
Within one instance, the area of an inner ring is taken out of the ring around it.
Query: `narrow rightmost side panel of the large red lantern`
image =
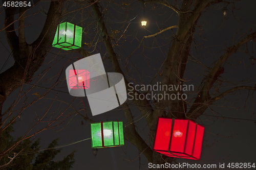
[[[201,152],[202,152],[203,136],[204,136],[204,127],[201,125],[197,125],[193,157],[198,160],[200,159]]]

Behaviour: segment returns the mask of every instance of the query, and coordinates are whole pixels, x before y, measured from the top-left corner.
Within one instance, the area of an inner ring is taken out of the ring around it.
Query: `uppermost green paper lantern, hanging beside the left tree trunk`
[[[82,28],[70,22],[59,23],[52,46],[72,50],[81,47]]]

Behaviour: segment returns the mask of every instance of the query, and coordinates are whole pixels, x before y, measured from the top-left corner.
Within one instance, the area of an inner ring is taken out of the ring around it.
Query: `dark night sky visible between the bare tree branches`
[[[173,1],[168,2],[172,3]],[[36,11],[42,10],[43,7],[45,10],[47,10],[49,8],[49,4],[49,2],[40,2],[31,10],[28,10],[27,15],[34,14]],[[161,9],[159,8],[156,11],[152,11],[151,7],[146,5],[144,18],[147,20],[147,26],[143,28],[141,27],[140,23],[143,17],[143,9],[141,10],[140,5],[141,3],[135,2],[132,6],[133,8],[129,12],[129,18],[134,19],[127,19],[128,21],[122,23],[122,31],[124,31],[125,28],[129,25],[129,27],[127,27],[127,32],[125,33],[127,35],[127,41],[121,46],[118,46],[118,49],[116,49],[116,53],[121,56],[120,62],[122,66],[125,64],[125,58],[127,58],[127,56],[129,56],[139,44],[139,42],[134,38],[135,36],[140,41],[144,35],[152,35],[158,32],[158,27],[164,29],[177,25],[178,22],[177,14],[171,9],[164,7]],[[250,34],[250,29],[253,31],[255,30],[256,1],[246,0],[237,2],[237,9],[234,9],[233,13],[231,12],[232,6],[232,4],[228,6],[229,13],[226,19],[223,18],[221,13],[221,9],[224,7],[223,4],[215,9],[207,9],[199,19],[199,25],[202,26],[204,32],[203,34],[200,34],[200,28],[196,29],[198,34],[195,33],[194,35],[195,43],[200,45],[197,46],[198,52],[196,52],[192,45],[190,53],[208,67],[212,67],[212,63],[217,61],[217,59],[225,52],[224,50],[226,47],[236,42],[239,37],[243,38],[246,36],[246,34]],[[159,5],[159,7],[161,6]],[[75,9],[78,7],[76,6],[72,8]],[[2,23],[1,27],[4,24],[4,15],[4,12],[0,14]],[[76,19],[72,19],[73,15],[75,15],[75,12],[68,17],[68,20],[70,22],[73,21],[73,23],[76,23],[78,26],[82,26],[81,22],[79,22],[79,15],[76,14]],[[123,15],[117,15],[114,10],[110,10],[108,26],[111,26],[112,30],[121,27],[120,23],[116,22],[122,22],[124,20],[123,17]],[[28,43],[32,43],[38,37],[42,27],[44,26],[45,19],[46,16],[42,13],[27,17],[25,25],[29,25],[26,27],[26,40]],[[83,21],[84,27],[86,26],[85,23],[87,23],[87,21]],[[90,22],[88,21],[88,25],[89,23]],[[15,26],[17,27],[17,23]],[[92,29],[89,31],[92,32]],[[140,49],[136,51],[134,55],[132,55],[130,58],[130,63],[132,63],[133,66],[137,68],[136,70],[133,69],[131,71],[132,77],[134,79],[136,78],[136,80],[140,82],[142,80],[143,84],[150,83],[152,77],[154,77],[157,72],[157,70],[152,68],[157,69],[162,65],[162,62],[164,61],[168,52],[168,44],[172,40],[172,36],[175,33],[176,29],[173,29],[173,31],[168,30],[164,34],[157,36],[158,45],[167,44],[161,47],[163,53],[157,48],[144,48],[143,56],[142,47],[140,47]],[[10,55],[10,48],[5,38],[4,31],[0,33],[0,40],[0,48],[2,53],[0,67],[2,68]],[[129,41],[132,42],[130,43]],[[154,38],[145,39],[144,45],[154,47],[156,42],[153,41]],[[88,43],[89,38],[83,36],[82,42]],[[103,57],[105,52],[104,44],[102,43],[99,45],[101,46],[101,51],[99,50],[99,47],[97,47],[97,52],[92,52],[92,55],[100,53],[101,57]],[[238,51],[236,54],[233,54],[224,64],[225,71],[221,76],[222,79],[225,80],[225,83],[222,84],[220,92],[223,92],[232,87],[236,87],[236,85],[246,84],[247,86],[254,86],[256,84],[256,65],[252,66],[249,62],[249,57],[252,55],[251,42],[248,43],[248,50],[250,55],[245,53],[246,45],[244,45],[240,48],[240,51]],[[90,49],[90,51],[93,51],[93,49]],[[63,50],[61,51],[58,48],[52,48],[46,57],[44,65],[41,66],[41,68],[36,72],[34,76],[37,76],[40,74],[40,72],[48,69],[49,67],[51,68],[47,72],[46,76],[37,83],[37,85],[40,87],[50,88],[56,81],[56,77],[54,76],[56,76],[62,68],[65,70],[71,63],[77,61],[77,57],[81,57],[81,55],[79,53],[70,53]],[[158,61],[156,62],[156,60]],[[195,63],[193,60],[193,58],[188,60],[184,76],[186,80],[190,80],[189,84],[193,84],[195,86],[194,91],[191,91],[189,94],[189,99],[196,96],[198,91],[197,86],[202,81],[202,78],[208,73],[204,66]],[[104,56],[103,62],[105,70],[107,72],[113,72],[112,65],[106,56]],[[13,63],[13,58],[10,58],[2,72],[12,66]],[[42,77],[42,75],[40,75],[40,77]],[[34,84],[38,80],[39,78],[35,77],[34,81],[30,82],[30,84]],[[50,113],[53,113],[54,115],[59,114],[60,112],[64,111],[68,104],[70,104],[72,101],[72,106],[74,108],[77,110],[83,109],[81,98],[74,100],[74,97],[68,93],[67,82],[65,80],[65,71],[62,72],[60,80],[62,82],[56,88],[54,88],[54,90],[47,94],[45,99],[39,100],[36,104],[24,111],[22,118],[18,119],[19,121],[14,125],[15,132],[12,134],[13,136],[17,137],[23,135],[28,127],[33,123],[36,117],[35,113],[38,115],[44,114],[44,111],[48,109],[56,94],[56,99],[59,101],[54,102],[52,108],[50,109]],[[46,92],[46,89],[40,87],[34,87],[28,93],[29,102],[32,102],[37,98],[36,95],[33,95],[33,93],[38,92],[39,94],[43,94]],[[31,86],[26,85],[24,90],[29,88],[31,88]],[[5,111],[17,98],[18,92],[19,89],[14,91],[8,97],[4,104],[3,111]],[[214,111],[207,109],[205,111],[205,115],[212,116],[202,115],[198,118],[198,123],[205,126],[201,160],[194,161],[187,159],[176,159],[176,161],[181,163],[189,162],[191,164],[197,163],[201,165],[219,165],[219,163],[227,164],[232,162],[256,163],[256,124],[254,124],[254,120],[256,119],[256,104],[252,98],[253,96],[255,98],[255,94],[252,94],[252,92],[249,94],[250,96],[247,98],[247,90],[237,91],[237,93],[229,94],[225,97],[225,99],[221,99],[214,103],[215,106],[212,106]],[[60,102],[60,100],[67,102],[68,104]],[[87,99],[82,98],[82,100],[86,104],[87,108],[89,108]],[[15,109],[17,110],[21,105],[22,102],[20,102],[20,104],[18,104]],[[140,119],[140,112],[135,106],[131,106],[131,110],[133,111],[133,115],[136,121],[135,125],[139,129],[139,134],[143,139],[148,141],[149,130],[147,128],[145,119]],[[80,113],[83,115],[86,114],[84,110],[81,110]],[[36,135],[36,138],[41,138],[41,149],[46,148],[48,144],[57,137],[60,138],[59,145],[66,145],[91,137],[90,124],[88,122],[83,120],[80,115],[74,113],[72,108],[66,110],[65,114],[71,114],[69,118],[65,119],[65,123],[57,128],[43,131]],[[87,110],[87,115],[96,122],[100,122],[102,120],[118,120],[123,121],[124,125],[126,123],[123,111],[120,109],[120,107],[96,116],[92,116],[90,110]],[[220,118],[221,116],[232,117],[236,119],[224,119]],[[249,120],[240,120],[241,118]],[[83,125],[81,124],[81,121],[83,121]],[[39,129],[40,126],[36,127],[35,130]],[[75,154],[76,163],[74,164],[73,169],[126,170],[147,169],[148,167],[148,162],[144,155],[141,154],[139,157],[138,149],[128,141],[125,141],[123,147],[99,149],[96,158],[92,154],[91,140],[89,139],[81,141],[76,144],[63,147],[61,153],[56,156],[55,160],[61,160],[63,156],[67,156],[74,150],[77,152]]]

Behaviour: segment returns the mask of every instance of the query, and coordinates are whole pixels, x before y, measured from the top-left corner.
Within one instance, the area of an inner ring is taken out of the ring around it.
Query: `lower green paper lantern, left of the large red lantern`
[[[92,148],[109,148],[124,145],[122,122],[91,123]]]

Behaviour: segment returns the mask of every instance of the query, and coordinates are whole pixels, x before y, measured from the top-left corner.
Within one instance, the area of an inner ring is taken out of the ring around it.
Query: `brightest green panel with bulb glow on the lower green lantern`
[[[113,122],[103,122],[104,146],[114,145]]]

